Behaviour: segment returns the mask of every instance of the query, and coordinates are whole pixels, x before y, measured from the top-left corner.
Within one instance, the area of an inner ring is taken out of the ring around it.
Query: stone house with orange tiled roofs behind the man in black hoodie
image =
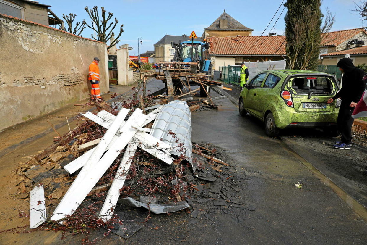
[[[365,43],[367,45],[367,33],[364,28],[328,32],[324,36],[322,41],[323,46],[320,48],[320,58],[323,60],[322,64],[336,65],[338,60],[344,57],[345,54],[358,53],[361,52],[358,50],[364,50],[363,47]],[[355,49],[357,50],[354,51]],[[362,54],[355,55],[363,56]],[[352,60],[353,59],[352,57]],[[360,62],[364,61],[364,58],[361,59],[359,57],[354,59],[353,62],[354,61],[357,62],[355,64],[360,64]]]

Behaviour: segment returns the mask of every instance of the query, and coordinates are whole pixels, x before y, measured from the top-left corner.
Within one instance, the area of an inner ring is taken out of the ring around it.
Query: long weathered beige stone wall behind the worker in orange
[[[93,57],[109,91],[105,43],[1,14],[0,43],[0,130],[87,98]]]

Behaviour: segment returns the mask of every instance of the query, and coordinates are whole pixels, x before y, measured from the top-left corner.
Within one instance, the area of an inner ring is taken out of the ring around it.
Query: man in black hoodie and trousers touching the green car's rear
[[[342,88],[333,98],[328,99],[327,103],[330,104],[337,98],[341,98],[342,100],[338,114],[338,130],[342,137],[341,141],[336,142],[333,147],[350,149],[352,145],[352,125],[354,120],[352,113],[362,97],[365,87],[363,76],[366,73],[362,69],[356,68],[349,58],[342,58],[339,60],[337,66],[343,73]]]

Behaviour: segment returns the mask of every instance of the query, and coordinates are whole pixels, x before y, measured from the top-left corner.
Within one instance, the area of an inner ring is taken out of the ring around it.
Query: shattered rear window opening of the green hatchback
[[[331,93],[336,86],[333,80],[323,76],[299,76],[290,79],[288,86],[296,91],[297,94],[313,92]]]

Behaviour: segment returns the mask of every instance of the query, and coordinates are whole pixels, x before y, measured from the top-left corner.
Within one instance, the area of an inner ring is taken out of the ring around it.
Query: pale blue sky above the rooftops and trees
[[[212,1],[146,1],[146,0],[38,0],[42,4],[51,5],[50,9],[62,18],[62,14],[74,13],[77,15],[76,21],[89,17],[84,10],[86,6],[105,7],[108,12],[113,12],[113,18],[123,24],[124,32],[120,37],[121,44],[129,44],[134,49],[130,55],[138,54],[138,37],[143,37],[143,44],[139,45],[140,53],[147,50],[154,50],[153,44],[158,42],[164,35],[190,35],[194,30],[197,36],[201,36],[204,28],[212,24],[225,10],[229,15],[248,28],[254,29],[252,35],[261,35],[270,19],[275,14],[282,0],[263,1],[233,1],[233,0],[212,0]],[[358,0],[357,0],[358,1]],[[357,2],[356,1],[356,2]],[[321,6],[323,13],[326,7],[336,16],[336,22],[332,31],[345,30],[364,26],[355,12],[353,0],[324,0]],[[283,6],[276,17],[265,31],[284,32],[283,11],[274,29],[270,29],[278,18]],[[90,21],[88,22],[90,23]],[[116,30],[117,32],[117,30]],[[83,31],[83,37],[90,38],[92,31],[88,27]]]

